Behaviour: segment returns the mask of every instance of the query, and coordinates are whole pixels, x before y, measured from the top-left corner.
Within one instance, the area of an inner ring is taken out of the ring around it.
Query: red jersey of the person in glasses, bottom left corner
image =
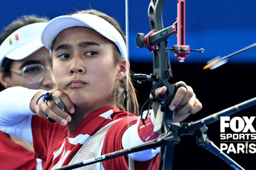
[[[41,161],[41,160],[39,160]],[[0,169],[3,170],[38,170],[41,162],[34,158],[34,152],[13,142],[6,133],[0,131]]]

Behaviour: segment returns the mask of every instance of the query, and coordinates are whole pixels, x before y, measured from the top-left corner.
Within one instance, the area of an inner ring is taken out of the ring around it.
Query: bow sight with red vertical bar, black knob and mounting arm
[[[157,25],[162,21],[161,6],[165,3],[165,0],[153,0],[148,8],[148,17],[151,24],[151,29],[146,36],[143,33],[138,33],[136,38],[136,45],[138,48],[147,48],[149,51],[157,51],[158,43],[167,41],[173,34],[177,34],[177,45],[173,45],[172,48],[166,48],[171,50],[175,54],[179,62],[184,62],[185,57],[189,56],[190,51],[204,52],[204,49],[199,50],[190,49],[189,45],[185,45],[185,0],[178,0],[178,16],[177,21],[167,28],[160,28]],[[160,14],[157,14],[157,12]],[[160,18],[157,18],[160,17]],[[158,28],[158,29],[157,29]],[[166,43],[167,44],[167,43]]]

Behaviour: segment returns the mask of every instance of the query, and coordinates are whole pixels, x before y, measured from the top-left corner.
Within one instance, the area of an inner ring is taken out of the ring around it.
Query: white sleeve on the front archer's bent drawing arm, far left
[[[0,92],[0,130],[32,142],[30,101],[38,91],[23,87]]]

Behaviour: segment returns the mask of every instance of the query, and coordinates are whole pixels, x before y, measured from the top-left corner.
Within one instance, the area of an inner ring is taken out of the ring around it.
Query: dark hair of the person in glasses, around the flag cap
[[[17,29],[32,24],[32,23],[41,23],[41,22],[49,22],[47,17],[38,17],[36,15],[24,15],[17,20],[12,21],[8,26],[6,26],[0,36],[0,45],[3,41],[11,35]],[[2,66],[0,66],[0,71],[3,73],[4,77],[10,77],[10,67],[12,65],[13,59],[5,58],[3,60]]]

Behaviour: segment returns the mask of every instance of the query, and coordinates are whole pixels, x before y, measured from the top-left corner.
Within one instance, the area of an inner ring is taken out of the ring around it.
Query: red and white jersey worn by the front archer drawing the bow
[[[35,157],[46,161],[44,170],[67,165],[82,144],[101,130],[102,127],[117,119],[121,120],[115,122],[106,133],[102,154],[122,149],[122,135],[127,130],[128,123],[133,125],[137,122],[137,116],[120,111],[113,106],[105,106],[90,113],[69,137],[67,136],[67,126],[62,126],[56,122],[49,123],[45,118],[32,116]],[[126,156],[103,161],[102,165],[105,170],[129,169]],[[149,161],[135,161],[135,166],[140,170],[157,170],[158,156]]]

